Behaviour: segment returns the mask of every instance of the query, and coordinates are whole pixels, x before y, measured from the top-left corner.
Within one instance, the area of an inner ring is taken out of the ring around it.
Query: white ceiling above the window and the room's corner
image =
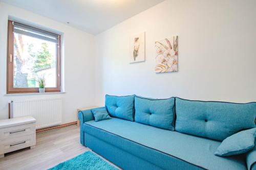
[[[0,1],[96,35],[164,0]]]

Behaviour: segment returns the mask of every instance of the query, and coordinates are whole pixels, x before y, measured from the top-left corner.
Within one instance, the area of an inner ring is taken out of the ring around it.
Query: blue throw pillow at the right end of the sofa
[[[254,148],[256,128],[238,132],[227,137],[215,152],[218,156],[231,156],[246,153]]]

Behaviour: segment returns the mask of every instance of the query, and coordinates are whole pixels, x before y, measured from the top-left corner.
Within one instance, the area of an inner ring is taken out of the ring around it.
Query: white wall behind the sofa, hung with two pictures
[[[166,0],[96,36],[96,100],[104,94],[256,101],[256,1]],[[146,61],[129,64],[145,31]],[[179,71],[155,74],[155,41],[179,36]]]

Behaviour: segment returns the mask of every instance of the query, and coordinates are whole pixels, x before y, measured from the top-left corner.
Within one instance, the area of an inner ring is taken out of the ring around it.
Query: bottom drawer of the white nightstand
[[[35,145],[35,133],[18,138],[0,141],[0,154],[16,151]]]

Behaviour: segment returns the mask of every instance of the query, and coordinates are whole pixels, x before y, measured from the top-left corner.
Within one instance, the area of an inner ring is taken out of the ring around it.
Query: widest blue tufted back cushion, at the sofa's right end
[[[175,130],[215,140],[255,128],[256,103],[189,101],[176,98]]]

